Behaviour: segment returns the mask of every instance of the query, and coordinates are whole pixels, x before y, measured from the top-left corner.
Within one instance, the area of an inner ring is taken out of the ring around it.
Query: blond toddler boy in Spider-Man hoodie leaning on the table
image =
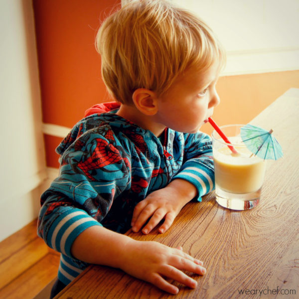
[[[131,1],[100,27],[102,76],[116,102],[86,112],[57,148],[60,174],[41,196],[38,234],[61,252],[52,297],[88,264],[120,268],[177,294],[203,263],[148,234],[214,188],[210,138],[225,54],[210,28],[164,0]],[[163,221],[162,221],[163,220]]]

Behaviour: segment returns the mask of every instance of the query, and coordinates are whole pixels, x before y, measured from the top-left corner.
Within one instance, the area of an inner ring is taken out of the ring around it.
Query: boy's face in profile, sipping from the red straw
[[[196,133],[220,102],[217,64],[206,72],[190,69],[159,97],[156,122],[183,133]]]

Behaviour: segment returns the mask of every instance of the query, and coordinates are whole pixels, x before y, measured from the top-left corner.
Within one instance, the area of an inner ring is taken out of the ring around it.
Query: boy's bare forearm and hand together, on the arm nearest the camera
[[[182,248],[136,241],[100,226],[83,231],[74,241],[71,252],[81,261],[120,268],[171,294],[177,294],[178,288],[167,282],[167,278],[195,288],[196,281],[182,271],[199,275],[206,272],[202,262],[184,253]]]

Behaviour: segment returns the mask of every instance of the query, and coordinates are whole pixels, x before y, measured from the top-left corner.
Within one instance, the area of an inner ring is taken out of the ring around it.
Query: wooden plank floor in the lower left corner
[[[0,299],[32,299],[57,276],[60,255],[36,235],[36,225],[0,242]]]

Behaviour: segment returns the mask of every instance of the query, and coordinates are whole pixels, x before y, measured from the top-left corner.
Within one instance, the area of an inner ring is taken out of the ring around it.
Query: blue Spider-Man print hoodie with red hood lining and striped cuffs
[[[166,128],[157,138],[118,109],[111,102],[87,110],[56,149],[59,176],[41,195],[38,235],[61,253],[58,278],[65,285],[88,266],[71,255],[88,227],[125,233],[136,204],[175,178],[195,185],[197,201],[214,188],[209,136]]]

